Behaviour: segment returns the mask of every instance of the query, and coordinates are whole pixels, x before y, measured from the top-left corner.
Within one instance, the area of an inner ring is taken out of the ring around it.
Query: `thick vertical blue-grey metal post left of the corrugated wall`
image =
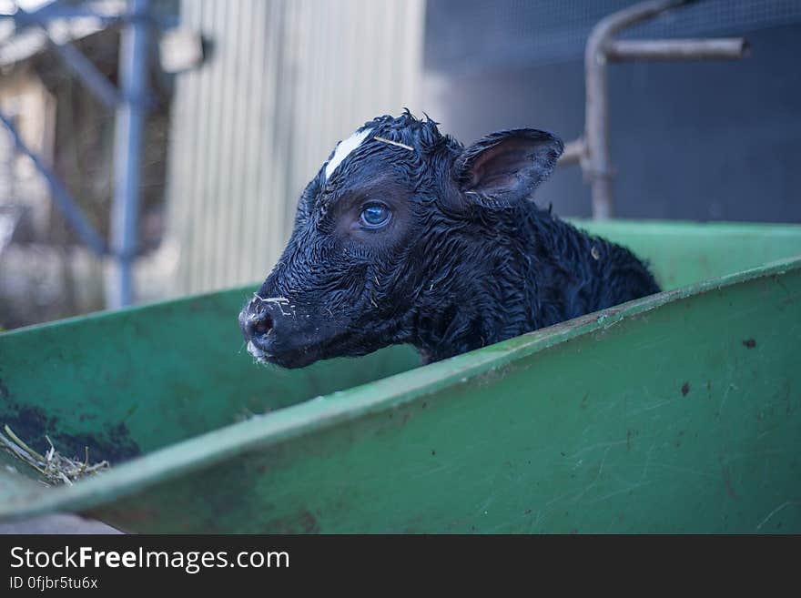
[[[139,174],[147,95],[149,24],[142,18],[149,0],[131,2],[133,18],[122,31],[119,76],[123,103],[117,108],[114,131],[114,204],[111,238],[117,265],[109,307],[120,308],[134,299],[133,262],[137,253]]]

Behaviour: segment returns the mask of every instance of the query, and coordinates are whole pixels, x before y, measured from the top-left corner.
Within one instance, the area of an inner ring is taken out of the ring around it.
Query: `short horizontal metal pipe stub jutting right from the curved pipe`
[[[743,37],[721,39],[612,40],[606,47],[610,61],[622,60],[735,60],[747,56]]]

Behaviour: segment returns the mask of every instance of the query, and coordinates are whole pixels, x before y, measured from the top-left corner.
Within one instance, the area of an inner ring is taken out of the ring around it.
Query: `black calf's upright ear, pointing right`
[[[466,147],[453,176],[466,199],[507,206],[529,198],[562,155],[563,143],[545,131],[519,128],[482,137]]]

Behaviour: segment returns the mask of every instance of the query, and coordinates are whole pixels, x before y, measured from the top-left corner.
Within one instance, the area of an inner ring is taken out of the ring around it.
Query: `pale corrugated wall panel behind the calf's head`
[[[336,142],[420,107],[423,3],[182,0],[182,25],[202,32],[208,58],[177,76],[169,294],[263,279]]]

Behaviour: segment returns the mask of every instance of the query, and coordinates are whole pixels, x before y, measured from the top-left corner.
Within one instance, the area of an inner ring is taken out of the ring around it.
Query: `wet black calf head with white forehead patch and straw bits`
[[[287,248],[239,314],[248,351],[297,368],[390,344],[436,360],[493,341],[492,279],[514,252],[500,215],[562,150],[535,129],[465,148],[408,112],[366,123],[303,192]]]

